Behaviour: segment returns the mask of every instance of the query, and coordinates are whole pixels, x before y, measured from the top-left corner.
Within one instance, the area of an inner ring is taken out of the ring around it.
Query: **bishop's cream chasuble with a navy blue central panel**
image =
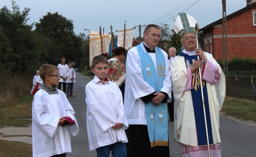
[[[216,144],[221,142],[219,110],[224,102],[226,82],[225,75],[213,56],[205,52],[204,56],[208,59],[206,65],[203,63],[202,66],[202,85],[209,143]],[[190,56],[190,59],[186,57],[188,56],[183,50],[170,62],[174,95],[174,138],[176,142],[185,145],[203,146],[207,145],[207,138],[205,137],[200,79],[197,74],[199,72],[191,74],[189,69],[189,65],[192,65],[191,62],[195,61],[197,56]]]

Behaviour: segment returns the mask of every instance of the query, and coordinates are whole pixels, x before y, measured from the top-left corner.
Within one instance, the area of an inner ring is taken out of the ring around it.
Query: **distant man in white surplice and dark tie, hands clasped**
[[[68,76],[69,76],[69,69],[68,69],[68,65],[65,64],[65,61],[66,61],[66,58],[62,57],[61,58],[61,63],[58,64],[59,74],[60,74],[58,89],[61,90],[61,84],[63,83],[63,92],[66,94],[66,88],[67,88]]]

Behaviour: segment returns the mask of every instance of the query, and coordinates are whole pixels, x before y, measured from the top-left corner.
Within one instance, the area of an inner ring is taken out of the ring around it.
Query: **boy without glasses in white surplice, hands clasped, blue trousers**
[[[107,78],[109,63],[104,56],[93,58],[91,71],[94,79],[85,87],[89,149],[96,149],[97,156],[109,156],[112,151],[113,157],[126,157],[128,123],[122,92]]]

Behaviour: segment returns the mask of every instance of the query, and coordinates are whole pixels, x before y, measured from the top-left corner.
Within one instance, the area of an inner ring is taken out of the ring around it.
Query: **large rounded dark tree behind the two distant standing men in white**
[[[45,61],[48,63],[57,65],[62,56],[65,56],[67,61],[78,61],[82,56],[82,40],[74,34],[72,20],[66,19],[58,12],[48,12],[35,26],[35,31],[42,36],[43,57],[46,57]]]

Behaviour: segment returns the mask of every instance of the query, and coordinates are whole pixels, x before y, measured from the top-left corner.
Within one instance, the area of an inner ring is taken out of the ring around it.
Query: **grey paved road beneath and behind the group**
[[[96,157],[96,151],[89,151],[86,130],[85,86],[90,81],[86,76],[76,73],[73,94],[68,98],[75,110],[79,133],[71,137],[72,153],[68,157]],[[181,147],[174,141],[173,122],[168,121],[170,156],[181,157]],[[256,127],[238,124],[236,121],[220,116],[221,150],[223,157],[255,157]],[[111,155],[110,155],[111,156]]]

